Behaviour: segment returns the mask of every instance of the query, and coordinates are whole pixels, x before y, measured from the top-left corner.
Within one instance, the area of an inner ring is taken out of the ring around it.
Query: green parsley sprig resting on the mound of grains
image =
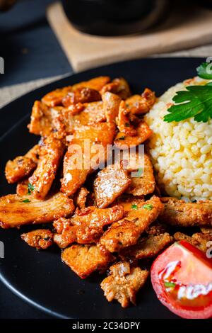
[[[212,79],[212,72],[208,70],[208,64],[204,62],[197,68],[199,77],[203,79]],[[212,119],[212,84],[205,86],[187,86],[185,91],[177,91],[173,101],[175,102],[168,108],[169,114],[165,115],[164,120],[167,123],[172,121],[181,121],[194,117],[197,122],[206,123]]]

